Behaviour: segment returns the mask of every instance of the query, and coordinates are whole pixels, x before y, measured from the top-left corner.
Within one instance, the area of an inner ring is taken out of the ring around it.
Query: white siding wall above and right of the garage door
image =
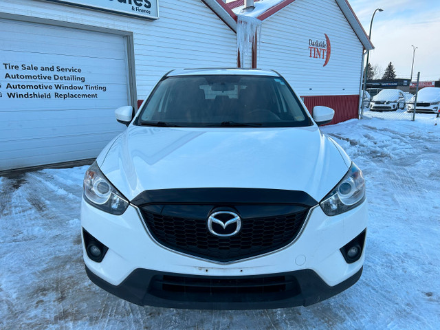
[[[1,0],[0,12],[133,32],[140,99],[170,69],[236,67],[236,34],[199,0],[160,0],[156,21],[45,0]]]

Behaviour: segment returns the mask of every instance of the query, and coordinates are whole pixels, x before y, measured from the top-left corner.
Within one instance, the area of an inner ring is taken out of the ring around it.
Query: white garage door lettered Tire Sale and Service
[[[0,170],[96,157],[131,104],[126,37],[0,19]]]

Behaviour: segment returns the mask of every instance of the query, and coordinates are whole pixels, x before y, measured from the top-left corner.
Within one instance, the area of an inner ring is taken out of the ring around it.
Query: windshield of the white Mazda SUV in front
[[[283,78],[176,76],[162,80],[136,122],[154,126],[309,126]]]

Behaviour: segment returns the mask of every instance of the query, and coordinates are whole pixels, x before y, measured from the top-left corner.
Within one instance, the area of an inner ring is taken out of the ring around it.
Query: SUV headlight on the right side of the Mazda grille
[[[327,215],[347,212],[365,199],[365,179],[362,170],[351,163],[349,171],[329,194],[322,199],[320,206]]]

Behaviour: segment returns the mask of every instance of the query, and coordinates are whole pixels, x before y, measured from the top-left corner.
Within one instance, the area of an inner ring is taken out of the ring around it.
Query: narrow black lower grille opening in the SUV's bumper
[[[168,275],[154,276],[148,291],[159,298],[216,303],[282,300],[301,292],[294,276],[203,278]]]

